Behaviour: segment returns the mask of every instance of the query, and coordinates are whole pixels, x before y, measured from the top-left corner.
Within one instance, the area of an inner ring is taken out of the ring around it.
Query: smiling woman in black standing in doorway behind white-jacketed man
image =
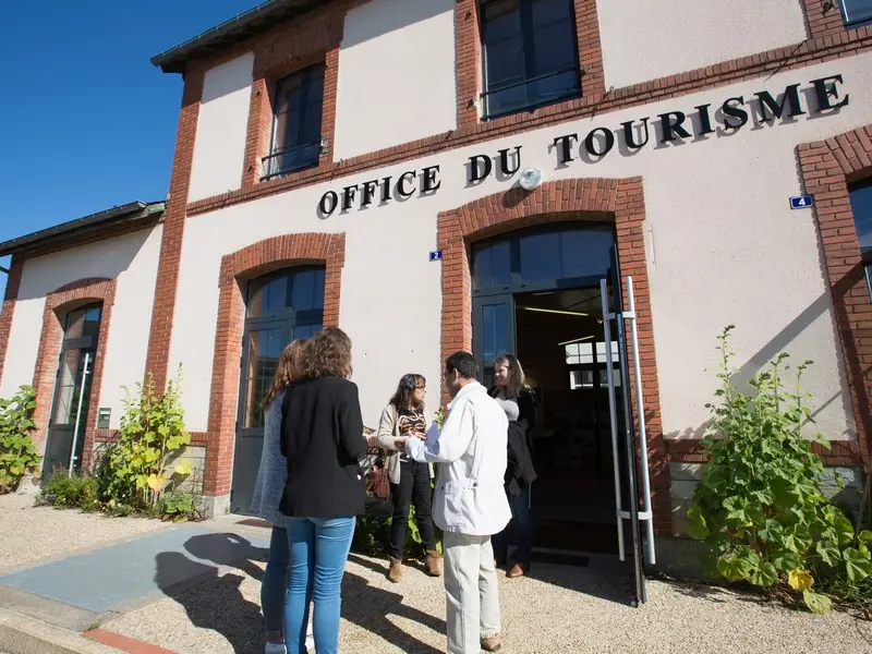
[[[511,507],[518,538],[513,566],[508,565],[508,531],[511,523],[494,536],[497,564],[506,565],[509,578],[523,577],[530,570],[533,549],[533,516],[530,488],[536,479],[533,469],[532,431],[536,424],[536,396],[526,385],[521,362],[513,354],[504,354],[494,362],[496,386],[491,396],[502,405],[509,419],[508,467],[506,494]]]

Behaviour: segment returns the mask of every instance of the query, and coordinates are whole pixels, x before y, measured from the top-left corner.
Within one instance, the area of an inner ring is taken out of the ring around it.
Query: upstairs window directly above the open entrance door
[[[572,0],[485,0],[485,116],[581,94]]]

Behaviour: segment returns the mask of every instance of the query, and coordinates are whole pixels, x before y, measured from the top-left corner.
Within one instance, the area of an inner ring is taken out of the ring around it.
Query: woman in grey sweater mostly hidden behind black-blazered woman
[[[254,486],[252,511],[272,524],[269,538],[269,557],[261,582],[261,607],[266,627],[265,654],[284,654],[284,593],[288,588],[288,568],[291,553],[284,518],[279,513],[279,501],[288,475],[288,463],[281,455],[281,400],[284,388],[300,378],[305,341],[294,340],[279,356],[272,384],[264,398],[264,447],[261,468]]]

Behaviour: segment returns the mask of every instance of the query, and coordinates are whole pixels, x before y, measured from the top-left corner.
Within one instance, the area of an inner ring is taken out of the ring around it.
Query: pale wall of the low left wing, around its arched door
[[[111,408],[111,427],[118,427],[121,386],[145,374],[161,231],[158,226],[25,262],[0,396],[33,384],[46,296],[80,279],[117,279],[99,405]]]

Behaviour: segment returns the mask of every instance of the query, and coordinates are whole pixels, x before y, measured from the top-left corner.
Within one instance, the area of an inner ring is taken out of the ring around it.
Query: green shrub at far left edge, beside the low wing
[[[0,495],[15,491],[26,473],[39,470],[43,458],[31,439],[35,409],[32,386],[22,386],[11,400],[0,399]]]

